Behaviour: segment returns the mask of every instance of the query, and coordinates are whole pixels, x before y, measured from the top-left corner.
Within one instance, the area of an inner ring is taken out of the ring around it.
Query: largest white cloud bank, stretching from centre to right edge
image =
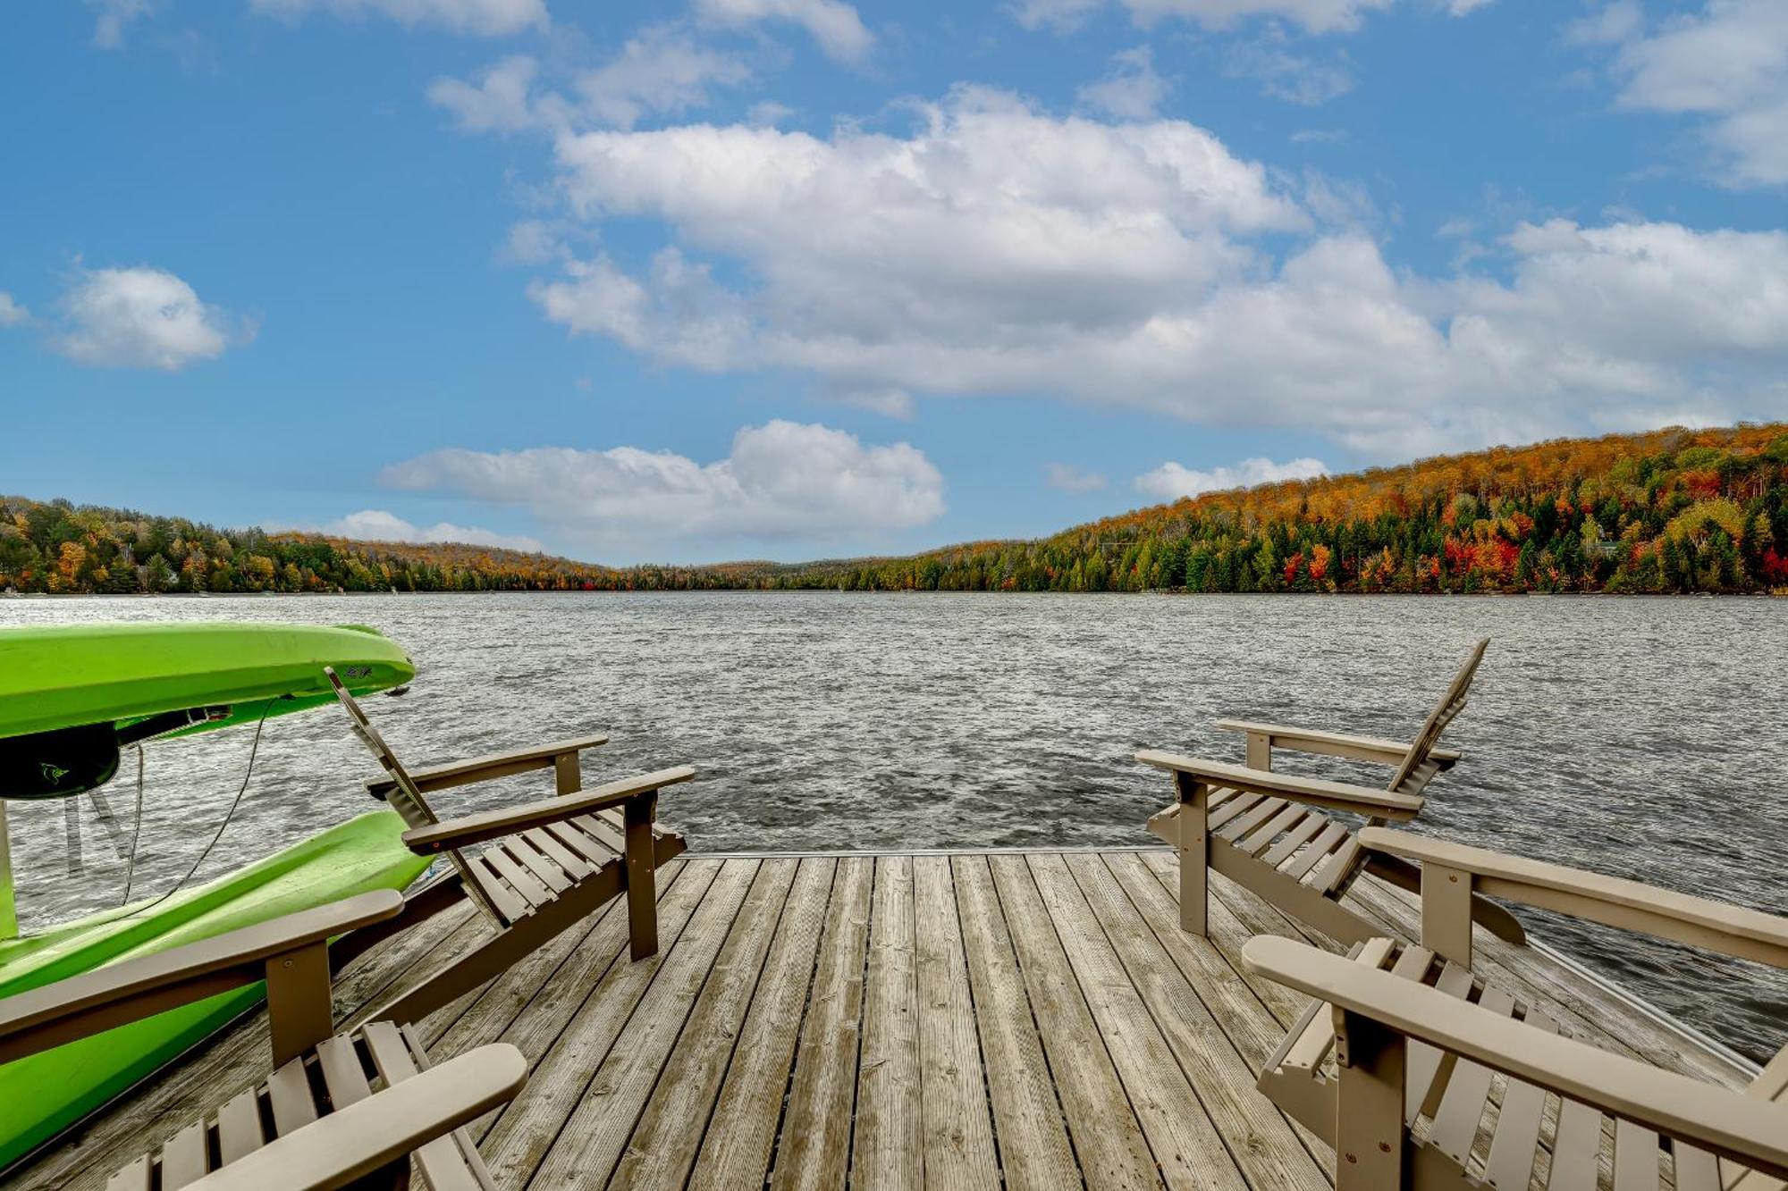
[[[1520,225],[1482,272],[1423,277],[1354,231],[1357,188],[985,89],[907,134],[597,131],[556,157],[570,218],[669,243],[572,256],[533,299],[708,372],[1300,426],[1377,458],[1781,410],[1788,232]]]

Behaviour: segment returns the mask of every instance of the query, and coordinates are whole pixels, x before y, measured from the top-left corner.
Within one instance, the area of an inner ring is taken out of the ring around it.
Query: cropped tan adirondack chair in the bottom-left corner
[[[266,982],[274,1071],[175,1132],[107,1191],[401,1187],[409,1157],[434,1191],[490,1191],[463,1125],[515,1096],[522,1052],[479,1046],[440,1066],[415,1034],[334,1034],[329,937],[402,910],[377,891],[0,1000],[0,1062]]]

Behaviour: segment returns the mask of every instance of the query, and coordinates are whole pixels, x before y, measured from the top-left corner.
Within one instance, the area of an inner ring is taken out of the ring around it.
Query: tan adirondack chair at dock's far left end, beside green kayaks
[[[401,919],[342,941],[336,966],[395,930],[454,905],[461,896],[495,926],[493,935],[454,957],[440,973],[377,1016],[401,1023],[420,1021],[620,894],[628,896],[633,959],[658,951],[658,894],[653,874],[660,864],[687,848],[681,835],[656,826],[658,790],[694,778],[692,767],[658,769],[585,790],[579,753],[604,742],[604,737],[588,737],[411,773],[334,671],[325,672],[347,708],[354,735],[384,765],[386,778],[368,781],[367,789],[375,798],[384,798],[409,824],[404,842],[411,851],[424,857],[445,855],[452,864],[451,873],[406,900]],[[556,776],[556,798],[445,823],[426,798],[434,790],[547,767]],[[488,848],[468,851],[474,844],[486,842]]]

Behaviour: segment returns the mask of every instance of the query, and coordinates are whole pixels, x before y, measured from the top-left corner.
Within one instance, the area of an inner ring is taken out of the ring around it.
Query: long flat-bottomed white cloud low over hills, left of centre
[[[395,463],[381,479],[520,504],[592,545],[833,538],[921,526],[944,511],[944,479],[917,447],[781,420],[740,429],[712,463],[637,447],[451,449]]]

